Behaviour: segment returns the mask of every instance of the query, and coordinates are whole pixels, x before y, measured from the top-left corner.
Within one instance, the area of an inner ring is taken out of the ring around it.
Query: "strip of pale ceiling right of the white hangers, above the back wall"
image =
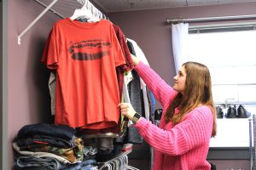
[[[90,0],[106,13],[154,9],[202,6],[228,3],[250,3],[256,0]]]

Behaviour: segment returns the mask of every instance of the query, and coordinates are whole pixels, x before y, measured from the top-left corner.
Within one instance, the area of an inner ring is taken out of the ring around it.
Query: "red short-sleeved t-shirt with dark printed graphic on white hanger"
[[[56,70],[55,124],[102,129],[119,122],[116,67],[125,64],[113,24],[69,18],[53,26],[42,62]]]

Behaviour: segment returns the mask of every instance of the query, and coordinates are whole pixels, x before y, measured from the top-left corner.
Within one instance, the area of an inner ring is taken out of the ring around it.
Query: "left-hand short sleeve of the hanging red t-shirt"
[[[57,31],[55,26],[49,31],[48,38],[44,45],[44,52],[41,62],[49,69],[57,69],[59,66],[59,45],[57,43]]]

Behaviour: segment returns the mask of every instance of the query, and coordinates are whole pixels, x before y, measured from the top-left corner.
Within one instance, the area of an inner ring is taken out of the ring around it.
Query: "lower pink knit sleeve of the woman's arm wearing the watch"
[[[212,135],[212,111],[207,106],[190,111],[183,122],[161,129],[146,119],[136,123],[138,132],[155,150],[178,156],[201,144],[209,144]]]

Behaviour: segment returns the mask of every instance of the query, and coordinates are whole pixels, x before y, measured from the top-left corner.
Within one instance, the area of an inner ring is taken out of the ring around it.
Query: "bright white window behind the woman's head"
[[[208,66],[216,104],[256,105],[256,31],[189,34],[189,60]]]

